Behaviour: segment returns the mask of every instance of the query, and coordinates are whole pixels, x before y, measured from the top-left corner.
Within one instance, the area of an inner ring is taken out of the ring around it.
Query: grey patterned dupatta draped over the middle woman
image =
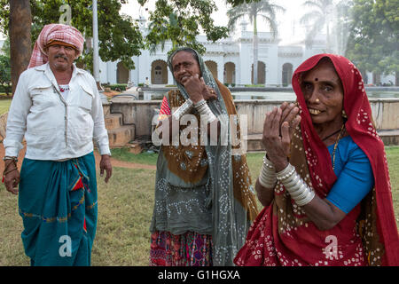
[[[182,50],[187,48],[177,49],[168,58],[172,74],[171,59]],[[217,99],[208,100],[207,104],[221,122],[222,133],[216,146],[205,146],[207,175],[198,185],[185,184],[181,178],[168,172],[167,161],[160,151],[151,231],[180,234],[196,230],[197,233],[212,234],[213,264],[233,265],[233,258],[244,245],[250,224],[246,218],[246,209],[233,194],[229,115],[213,75],[200,54],[195,52],[205,83],[217,93]],[[184,86],[177,83],[177,87],[184,99],[188,99]]]

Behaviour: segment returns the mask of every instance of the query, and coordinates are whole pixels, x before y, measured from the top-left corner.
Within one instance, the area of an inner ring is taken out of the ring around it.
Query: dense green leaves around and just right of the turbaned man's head
[[[144,44],[137,22],[119,13],[121,4],[125,3],[126,0],[98,1],[98,53],[105,62],[120,60],[128,69],[134,69],[131,57],[140,55],[140,49]],[[44,25],[59,22],[59,7],[63,4],[69,4],[71,7],[71,25],[79,29],[86,38],[92,36],[92,0],[31,0],[32,44]],[[0,26],[6,35],[8,16],[8,1],[0,0]],[[85,46],[83,53],[77,64],[92,70],[92,49]]]

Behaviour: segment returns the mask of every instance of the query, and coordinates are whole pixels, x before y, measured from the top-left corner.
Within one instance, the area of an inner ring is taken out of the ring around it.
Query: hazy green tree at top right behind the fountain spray
[[[347,57],[361,71],[399,73],[399,4],[354,0]]]

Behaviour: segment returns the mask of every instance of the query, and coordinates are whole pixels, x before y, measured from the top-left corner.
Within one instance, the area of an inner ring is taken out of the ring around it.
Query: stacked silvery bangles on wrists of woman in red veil
[[[315,197],[315,192],[303,181],[292,164],[288,163],[286,169],[276,173],[273,163],[266,158],[265,154],[259,183],[263,187],[274,188],[277,181],[286,187],[286,191],[299,206],[308,204]]]

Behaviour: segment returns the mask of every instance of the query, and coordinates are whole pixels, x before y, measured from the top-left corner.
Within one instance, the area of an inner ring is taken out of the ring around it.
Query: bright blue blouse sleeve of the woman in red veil
[[[340,174],[337,175],[338,179],[326,197],[328,201],[347,214],[364,199],[364,196],[374,186],[374,176],[369,159],[351,138],[350,141],[347,153],[343,154],[344,160],[347,161],[341,161],[342,168]]]

